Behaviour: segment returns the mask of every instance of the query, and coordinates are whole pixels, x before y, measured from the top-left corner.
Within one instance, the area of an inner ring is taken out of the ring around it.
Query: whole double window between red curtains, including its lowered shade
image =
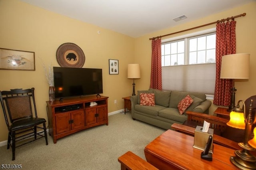
[[[162,88],[214,94],[215,46],[215,30],[162,41]]]

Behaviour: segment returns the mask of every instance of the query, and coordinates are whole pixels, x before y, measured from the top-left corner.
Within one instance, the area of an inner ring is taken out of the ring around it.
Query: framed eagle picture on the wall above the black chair
[[[0,48],[0,69],[35,71],[35,52]]]

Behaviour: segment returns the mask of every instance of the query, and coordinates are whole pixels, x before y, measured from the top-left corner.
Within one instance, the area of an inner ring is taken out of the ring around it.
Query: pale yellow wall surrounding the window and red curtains
[[[136,82],[136,89],[148,89],[150,85],[150,64],[151,64],[151,40],[149,38],[162,36],[170,34],[173,32],[178,32],[180,30],[186,30],[188,28],[193,28],[196,26],[208,24],[223,18],[228,18],[231,16],[236,16],[239,14],[246,13],[246,16],[236,18],[236,53],[250,53],[250,79],[248,81],[236,81],[235,87],[236,92],[236,102],[240,99],[245,100],[252,95],[256,95],[256,2],[234,8],[232,10],[227,10],[225,12],[220,12],[211,16],[203,17],[199,20],[182,24],[173,28],[168,28],[165,30],[160,30],[146,36],[137,38],[135,41],[135,63],[140,63],[141,65],[141,79]],[[189,34],[192,32],[197,32],[200,30],[205,30],[209,28],[216,27],[215,24],[206,26],[203,28],[194,29],[191,31],[183,32],[180,34],[174,34],[172,36],[163,37],[162,40],[172,38],[175,36],[180,36],[184,34]],[[212,105],[210,107],[210,113],[213,113],[218,106]]]

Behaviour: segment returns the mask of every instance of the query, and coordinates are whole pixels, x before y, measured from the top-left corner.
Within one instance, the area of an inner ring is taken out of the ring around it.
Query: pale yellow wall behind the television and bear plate
[[[109,113],[122,109],[122,97],[132,94],[127,65],[134,62],[134,38],[18,0],[0,0],[0,21],[0,48],[34,51],[36,64],[36,71],[0,70],[0,90],[34,87],[39,117],[47,118],[49,100],[49,85],[39,57],[46,64],[52,61],[53,66],[59,66],[56,50],[66,42],[75,43],[84,51],[83,67],[102,68],[103,95],[109,97]],[[108,59],[119,60],[118,75],[109,75]],[[7,128],[0,109],[0,141],[3,140],[7,140]]]

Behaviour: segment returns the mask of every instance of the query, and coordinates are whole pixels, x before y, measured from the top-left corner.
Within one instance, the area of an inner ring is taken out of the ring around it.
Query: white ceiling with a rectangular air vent
[[[216,14],[255,0],[21,1],[70,18],[137,38],[148,33],[173,27],[185,22],[190,22],[211,14]],[[173,18],[182,15],[186,15],[188,18],[178,22],[172,20]]]

